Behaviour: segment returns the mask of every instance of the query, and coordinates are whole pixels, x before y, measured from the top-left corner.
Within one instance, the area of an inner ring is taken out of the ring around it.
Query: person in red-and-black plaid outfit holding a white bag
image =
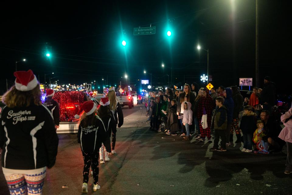
[[[212,111],[215,105],[214,105],[213,99],[209,95],[209,90],[207,88],[201,88],[199,93],[201,93],[202,97],[200,98],[200,104],[198,106],[198,119],[200,121],[199,124],[200,124],[200,133],[201,133],[201,137],[198,140],[204,142],[205,137],[207,136],[209,140],[208,142],[211,143],[212,142],[211,141],[211,120],[212,120]],[[204,110],[205,110],[205,114],[207,114],[208,127],[206,129],[203,129],[202,124],[201,124]]]

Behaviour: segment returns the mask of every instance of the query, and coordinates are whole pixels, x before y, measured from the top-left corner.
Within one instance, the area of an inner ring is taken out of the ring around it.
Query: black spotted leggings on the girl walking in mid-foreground
[[[82,151],[83,160],[84,160],[84,168],[83,168],[83,183],[88,183],[89,180],[89,168],[93,170],[93,184],[97,184],[98,182],[98,154],[89,154]]]

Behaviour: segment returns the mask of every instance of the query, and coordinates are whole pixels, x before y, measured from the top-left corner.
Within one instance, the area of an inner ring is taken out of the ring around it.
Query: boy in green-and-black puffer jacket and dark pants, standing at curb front
[[[224,98],[216,98],[216,109],[212,118],[212,126],[214,125],[215,140],[214,146],[210,151],[226,151],[226,127],[227,127],[227,108],[223,105]],[[218,148],[219,139],[221,138],[221,148]]]

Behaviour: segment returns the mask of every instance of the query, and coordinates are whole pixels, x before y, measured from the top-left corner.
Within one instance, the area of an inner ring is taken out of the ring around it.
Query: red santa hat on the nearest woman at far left
[[[19,91],[30,91],[38,84],[36,76],[32,70],[14,72],[15,88]]]

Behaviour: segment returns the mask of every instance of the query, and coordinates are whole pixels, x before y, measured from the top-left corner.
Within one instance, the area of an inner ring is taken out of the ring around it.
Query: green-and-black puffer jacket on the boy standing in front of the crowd
[[[212,126],[214,124],[215,130],[226,130],[227,128],[227,108],[222,105],[217,106],[212,118]]]

